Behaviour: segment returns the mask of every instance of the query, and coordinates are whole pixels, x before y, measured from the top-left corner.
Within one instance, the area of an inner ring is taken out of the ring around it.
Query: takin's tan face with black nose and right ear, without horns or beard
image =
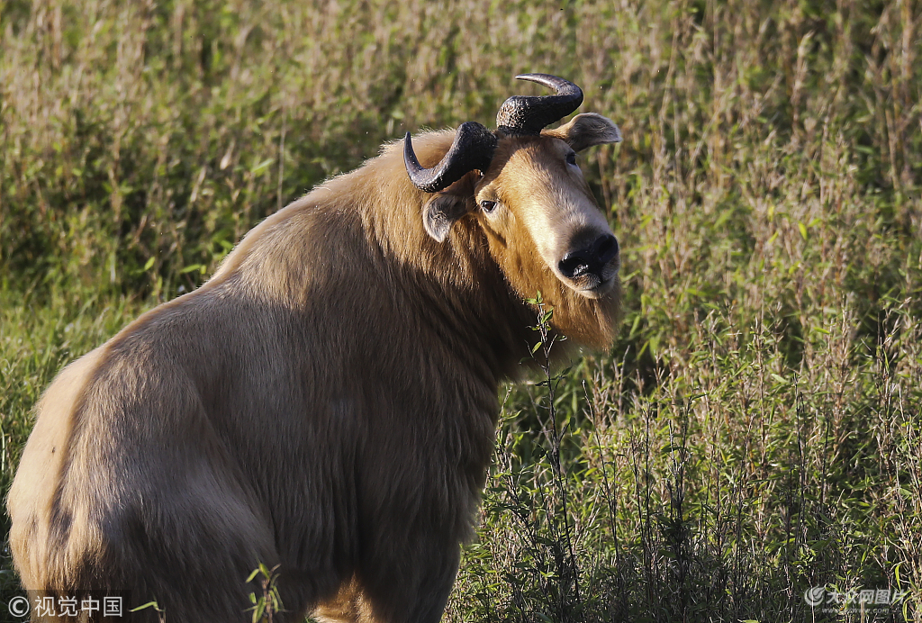
[[[586,299],[617,287],[618,241],[576,153],[619,140],[614,123],[590,113],[539,136],[500,141],[475,187],[476,209],[491,255],[520,295],[547,292],[550,275]]]

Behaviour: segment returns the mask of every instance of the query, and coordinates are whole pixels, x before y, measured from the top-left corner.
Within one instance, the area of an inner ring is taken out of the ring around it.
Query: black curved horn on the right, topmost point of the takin
[[[520,74],[515,78],[553,88],[557,95],[516,95],[502,102],[500,112],[496,115],[496,128],[506,135],[539,135],[542,128],[567,116],[583,103],[583,89],[561,77]]]

